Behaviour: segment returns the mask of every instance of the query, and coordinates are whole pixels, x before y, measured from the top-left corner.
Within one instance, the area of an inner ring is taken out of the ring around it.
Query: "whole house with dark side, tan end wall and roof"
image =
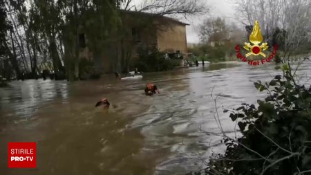
[[[187,53],[186,26],[176,19],[147,12],[120,10],[122,32],[111,36],[103,46],[102,59],[96,60],[96,69],[101,73],[129,70],[131,61],[138,58],[138,50],[156,47],[165,53]],[[92,59],[84,34],[79,35],[83,49],[79,57]],[[86,44],[85,44],[86,43]]]

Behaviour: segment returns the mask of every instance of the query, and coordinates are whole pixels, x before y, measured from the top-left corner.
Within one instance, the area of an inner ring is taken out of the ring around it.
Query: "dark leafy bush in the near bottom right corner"
[[[284,76],[254,83],[269,94],[258,107],[242,104],[230,114],[243,136],[225,138],[225,154],[213,155],[205,174],[292,175],[311,169],[311,87],[296,85],[288,65],[282,68]]]

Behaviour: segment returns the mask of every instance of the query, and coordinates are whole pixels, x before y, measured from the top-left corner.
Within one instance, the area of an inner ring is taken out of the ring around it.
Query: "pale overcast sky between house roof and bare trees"
[[[136,6],[142,3],[144,0],[133,0]],[[189,0],[191,1],[191,0]],[[214,17],[225,17],[227,20],[234,20],[234,4],[232,0],[202,0],[205,1],[210,8],[210,15]],[[182,20],[191,26],[187,26],[187,42],[198,43],[199,37],[197,32],[197,26],[202,23],[202,20],[208,17],[208,15],[202,15],[200,17],[189,18]]]

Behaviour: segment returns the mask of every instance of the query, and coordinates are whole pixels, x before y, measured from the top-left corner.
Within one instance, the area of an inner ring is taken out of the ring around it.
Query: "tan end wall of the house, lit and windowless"
[[[176,24],[165,31],[158,32],[158,49],[160,51],[166,50],[180,50],[182,53],[187,53],[187,37],[186,26]]]

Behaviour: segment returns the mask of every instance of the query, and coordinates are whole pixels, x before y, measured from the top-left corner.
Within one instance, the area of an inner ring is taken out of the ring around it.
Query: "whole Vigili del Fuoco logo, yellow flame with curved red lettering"
[[[245,42],[243,46],[243,48],[249,52],[246,55],[241,53],[240,45],[236,45],[236,57],[243,62],[248,62],[249,65],[258,66],[259,64],[271,62],[276,55],[276,45],[273,46],[272,54],[269,57],[266,57],[265,53],[263,53],[263,51],[267,50],[269,47],[267,46],[267,43],[262,43],[263,36],[261,35],[261,28],[259,27],[258,21],[255,21],[255,26],[253,27],[252,33],[249,35],[249,42],[252,44]],[[262,56],[263,58],[261,60],[247,59],[250,55]]]

